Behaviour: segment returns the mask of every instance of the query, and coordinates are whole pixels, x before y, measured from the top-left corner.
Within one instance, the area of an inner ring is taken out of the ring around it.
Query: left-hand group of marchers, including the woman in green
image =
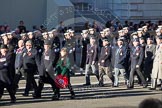
[[[17,44],[16,44],[17,43]],[[71,42],[69,42],[70,44]],[[64,46],[69,45],[64,42]],[[67,78],[71,98],[75,98],[70,84],[70,53],[68,47],[60,49],[60,38],[54,29],[50,32],[29,32],[17,36],[12,33],[1,35],[0,48],[0,98],[6,88],[11,102],[16,102],[16,92],[22,76],[26,80],[23,96],[29,96],[31,89],[33,97],[41,98],[44,83],[49,83],[53,89],[52,100],[60,97],[60,87],[56,84],[55,76]],[[39,74],[38,84],[34,75]]]

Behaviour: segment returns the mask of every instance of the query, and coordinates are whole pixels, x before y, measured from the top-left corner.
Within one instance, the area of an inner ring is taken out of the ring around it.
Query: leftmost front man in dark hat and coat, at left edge
[[[7,45],[1,45],[0,48],[0,98],[3,95],[4,88],[7,89],[11,97],[11,103],[16,102],[16,97],[12,86],[12,74],[9,70],[12,56],[8,54]]]

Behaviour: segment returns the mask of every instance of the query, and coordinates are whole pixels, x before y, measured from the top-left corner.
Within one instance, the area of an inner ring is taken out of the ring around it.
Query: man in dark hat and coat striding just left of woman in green
[[[39,71],[39,81],[36,93],[33,95],[34,98],[41,98],[41,91],[43,89],[44,83],[48,83],[52,86],[54,95],[52,100],[58,98],[58,93],[56,93],[56,86],[54,83],[54,68],[56,66],[54,51],[51,49],[51,41],[44,41],[44,52],[41,57],[40,71]]]

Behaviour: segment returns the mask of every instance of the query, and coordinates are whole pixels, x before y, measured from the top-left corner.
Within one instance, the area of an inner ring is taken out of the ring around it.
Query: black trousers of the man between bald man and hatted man
[[[34,91],[36,91],[37,89],[37,83],[34,79],[34,73],[35,70],[34,69],[25,69],[26,72],[26,88],[25,88],[25,94],[29,94],[29,91],[31,89],[31,87],[33,87]]]

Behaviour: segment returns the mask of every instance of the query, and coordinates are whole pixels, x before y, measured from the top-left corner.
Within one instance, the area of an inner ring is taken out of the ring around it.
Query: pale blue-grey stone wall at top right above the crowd
[[[95,7],[111,9],[123,20],[158,20],[162,18],[162,0],[96,0]]]

